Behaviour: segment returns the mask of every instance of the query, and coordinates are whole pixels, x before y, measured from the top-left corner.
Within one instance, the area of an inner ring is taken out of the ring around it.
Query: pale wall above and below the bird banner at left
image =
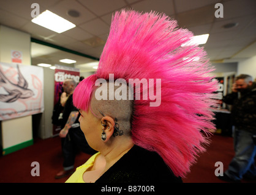
[[[22,52],[23,65],[31,65],[30,35],[1,25],[0,62],[12,63],[12,50]],[[1,133],[3,150],[32,140],[32,116],[1,121]]]

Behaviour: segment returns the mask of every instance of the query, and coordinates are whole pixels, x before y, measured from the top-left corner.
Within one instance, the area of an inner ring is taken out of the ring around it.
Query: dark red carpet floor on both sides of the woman
[[[224,171],[234,155],[233,138],[214,135],[207,151],[198,157],[191,167],[191,172],[183,179],[184,183],[220,183],[214,174],[215,163],[221,161]],[[82,165],[91,155],[80,152],[75,160],[75,167]],[[59,137],[36,140],[33,146],[0,157],[0,182],[65,182],[68,177],[55,179],[55,174],[62,169],[61,140]],[[40,176],[31,176],[31,163],[39,162]],[[242,180],[242,182],[248,182]],[[252,181],[250,181],[252,182]],[[256,181],[254,181],[255,183]]]

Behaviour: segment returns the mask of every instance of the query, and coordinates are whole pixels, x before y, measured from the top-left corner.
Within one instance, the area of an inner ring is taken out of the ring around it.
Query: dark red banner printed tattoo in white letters
[[[62,111],[61,108],[58,108],[59,98],[61,97],[61,93],[63,92],[62,84],[66,79],[73,79],[75,80],[75,82],[78,83],[80,78],[80,69],[67,67],[67,66],[60,66],[60,65],[55,65],[55,67],[56,69],[55,69],[54,105],[55,105],[56,115],[59,116],[59,112]],[[60,130],[61,130],[61,127],[59,126],[59,124],[58,123],[54,124],[53,122],[53,135],[58,134]]]

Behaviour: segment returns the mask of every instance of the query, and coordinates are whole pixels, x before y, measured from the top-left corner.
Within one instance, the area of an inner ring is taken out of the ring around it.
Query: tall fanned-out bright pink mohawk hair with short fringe
[[[209,74],[213,68],[203,48],[184,46],[192,37],[192,32],[178,29],[176,21],[164,14],[116,12],[96,74],[84,79],[73,94],[74,105],[87,110],[98,78],[108,80],[114,74],[127,82],[161,79],[158,107],[150,107],[149,99],[134,100],[132,140],[156,151],[181,177],[205,151],[207,135],[215,129],[210,107],[216,104],[217,84]]]

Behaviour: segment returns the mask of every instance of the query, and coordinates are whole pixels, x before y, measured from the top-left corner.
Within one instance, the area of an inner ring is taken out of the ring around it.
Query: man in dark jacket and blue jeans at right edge
[[[256,134],[256,83],[252,77],[247,74],[237,76],[232,93],[224,96],[223,101],[232,105],[235,157],[219,179],[226,182],[240,182],[243,177],[256,179],[256,146],[253,140]]]

